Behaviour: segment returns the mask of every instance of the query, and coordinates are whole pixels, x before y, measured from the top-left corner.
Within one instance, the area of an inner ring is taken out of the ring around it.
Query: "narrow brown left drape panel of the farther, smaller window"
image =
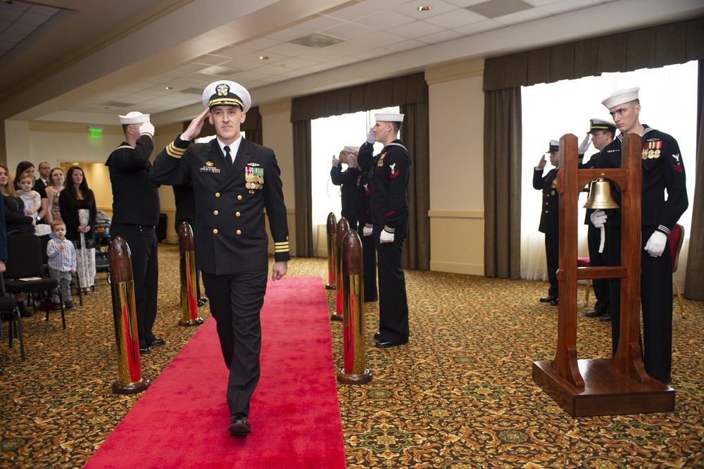
[[[310,120],[291,124],[294,130],[294,193],[296,194],[296,256],[312,257],[313,195],[310,189]]]

